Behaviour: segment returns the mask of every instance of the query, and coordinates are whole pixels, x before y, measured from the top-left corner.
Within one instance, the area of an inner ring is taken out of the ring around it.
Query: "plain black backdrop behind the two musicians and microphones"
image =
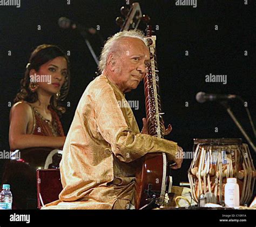
[[[165,123],[173,127],[166,139],[178,142],[186,152],[192,151],[196,137],[241,137],[246,142],[218,102],[199,104],[195,95],[199,91],[241,95],[255,120],[255,1],[248,0],[246,5],[244,0],[198,0],[197,8],[176,6],[174,0],[138,2],[143,13],[151,17],[153,27],[159,26],[156,35],[160,94]],[[57,44],[64,51],[71,51],[71,87],[66,100],[71,107],[61,119],[65,134],[81,95],[95,77],[97,66],[83,37],[76,30],[60,29],[58,18],[69,17],[85,27],[99,25],[105,40],[119,31],[115,18],[120,16],[119,9],[125,4],[126,1],[120,0],[71,0],[70,5],[65,0],[21,0],[21,8],[0,6],[1,150],[9,150],[8,102],[13,104],[30,53],[37,45]],[[38,25],[41,25],[40,31]],[[100,39],[89,36],[89,40],[99,56]],[[8,56],[9,50],[11,56]],[[189,56],[185,56],[185,51],[189,51]],[[248,56],[244,51],[248,51]],[[226,74],[227,84],[205,82],[205,75],[210,73]],[[143,85],[126,97],[139,100],[138,111],[133,111],[142,128]],[[233,101],[231,106],[253,138],[245,109],[238,101]],[[191,159],[184,160],[183,167],[174,171],[175,184],[187,181],[190,163]],[[3,160],[0,167],[2,164]]]

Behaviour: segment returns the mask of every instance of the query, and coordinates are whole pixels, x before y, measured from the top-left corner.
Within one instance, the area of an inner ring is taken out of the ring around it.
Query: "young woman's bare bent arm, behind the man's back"
[[[10,149],[24,149],[29,147],[62,148],[65,136],[42,136],[26,134],[29,122],[33,121],[31,107],[21,102],[11,108],[9,144]]]

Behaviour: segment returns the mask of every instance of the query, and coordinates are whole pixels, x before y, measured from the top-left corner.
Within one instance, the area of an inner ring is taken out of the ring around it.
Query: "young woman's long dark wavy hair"
[[[64,84],[60,89],[60,96],[58,99],[56,95],[52,95],[50,100],[51,108],[56,111],[59,115],[65,113],[66,109],[60,106],[60,101],[63,101],[69,92],[70,87],[70,63],[66,54],[55,45],[42,44],[36,47],[36,49],[31,53],[29,58],[29,63],[26,66],[26,71],[24,78],[21,80],[21,90],[16,95],[14,102],[27,101],[30,103],[36,102],[38,100],[37,92],[32,92],[29,89],[30,84],[30,70],[34,69],[37,72],[41,65],[47,63],[48,61],[55,59],[57,57],[64,57],[68,64],[68,73],[65,77]]]

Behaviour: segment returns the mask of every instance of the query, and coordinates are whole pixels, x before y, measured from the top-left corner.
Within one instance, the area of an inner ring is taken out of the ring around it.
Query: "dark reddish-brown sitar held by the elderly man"
[[[151,26],[147,26],[147,41],[150,64],[144,78],[144,93],[148,133],[163,138],[165,134],[163,113],[159,96],[159,77],[156,59],[156,36],[152,36]],[[167,129],[169,130],[169,129]],[[142,209],[149,203],[163,205],[168,192],[170,178],[169,165],[165,153],[151,153],[142,157],[142,166],[136,175],[135,207]]]

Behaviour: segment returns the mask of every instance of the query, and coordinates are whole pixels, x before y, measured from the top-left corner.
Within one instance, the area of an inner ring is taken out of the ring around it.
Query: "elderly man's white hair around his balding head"
[[[111,52],[116,52],[122,48],[122,46],[116,46],[117,42],[120,38],[124,37],[132,37],[132,38],[138,38],[144,42],[144,44],[147,46],[147,39],[144,36],[143,32],[140,30],[130,30],[130,31],[121,31],[113,36],[109,37],[102,49],[102,53],[100,54],[100,60],[99,60],[99,71],[103,72],[103,70],[106,67],[107,63],[107,57]]]

